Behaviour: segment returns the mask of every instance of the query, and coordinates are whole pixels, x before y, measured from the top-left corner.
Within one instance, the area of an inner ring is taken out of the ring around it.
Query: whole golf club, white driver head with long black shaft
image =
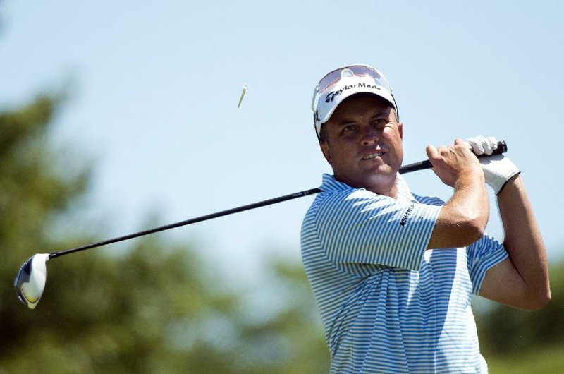
[[[507,152],[507,144],[505,143],[505,141],[502,140],[498,142],[498,147],[496,150],[494,150],[492,155],[499,155],[504,152]],[[488,157],[488,155],[479,155],[478,157]],[[414,164],[405,165],[400,168],[399,173],[405,174],[405,173],[410,173],[412,171],[430,169],[431,167],[432,167],[431,162],[429,162],[429,160],[427,159],[425,161],[415,162]],[[39,303],[39,299],[41,298],[43,294],[43,290],[45,289],[45,282],[47,280],[46,263],[48,260],[51,260],[53,258],[57,258],[62,255],[68,255],[75,252],[86,251],[87,249],[90,248],[106,246],[107,244],[117,243],[118,241],[125,241],[128,239],[137,238],[139,236],[154,234],[159,231],[174,229],[176,227],[181,227],[188,224],[194,224],[196,222],[207,221],[208,219],[223,217],[225,215],[232,215],[233,213],[243,212],[245,210],[251,210],[257,207],[264,207],[266,205],[281,203],[283,201],[293,200],[295,198],[302,198],[304,196],[314,195],[319,192],[321,192],[321,189],[312,188],[305,191],[290,193],[290,195],[283,195],[278,198],[271,198],[269,200],[259,201],[258,203],[252,203],[240,207],[234,207],[228,210],[223,210],[221,212],[204,215],[201,217],[186,219],[185,221],[180,221],[173,224],[166,224],[164,226],[155,227],[154,229],[147,229],[133,234],[118,236],[114,239],[107,239],[104,241],[99,241],[97,243],[88,244],[86,246],[68,249],[66,251],[59,251],[53,253],[37,253],[35,255],[32,255],[32,257],[28,258],[27,261],[25,261],[25,263],[23,263],[23,265],[20,267],[20,270],[18,271],[18,275],[16,275],[16,279],[14,279],[16,294],[18,295],[18,299],[25,306],[27,306],[27,308],[34,309],[35,306],[37,306],[37,303]]]

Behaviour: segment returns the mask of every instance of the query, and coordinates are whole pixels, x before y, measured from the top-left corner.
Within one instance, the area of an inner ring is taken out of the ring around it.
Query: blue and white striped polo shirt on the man
[[[507,257],[484,236],[426,251],[443,201],[398,198],[324,175],[302,224],[302,260],[331,353],[331,373],[486,373],[470,296]]]

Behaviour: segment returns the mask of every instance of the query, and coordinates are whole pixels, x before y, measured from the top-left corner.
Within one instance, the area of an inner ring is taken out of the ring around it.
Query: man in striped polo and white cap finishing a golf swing
[[[302,224],[302,260],[324,323],[331,373],[486,373],[471,294],[535,310],[550,301],[544,243],[513,162],[494,138],[427,147],[444,203],[398,174],[403,124],[386,78],[346,66],[312,103],[333,176]],[[472,147],[472,150],[470,150]],[[505,239],[484,234],[486,183]]]

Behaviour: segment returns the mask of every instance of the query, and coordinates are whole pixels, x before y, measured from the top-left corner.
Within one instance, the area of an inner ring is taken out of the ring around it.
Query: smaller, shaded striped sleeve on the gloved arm
[[[468,272],[472,281],[473,294],[479,293],[486,272],[507,257],[508,253],[503,244],[487,234],[467,247]]]

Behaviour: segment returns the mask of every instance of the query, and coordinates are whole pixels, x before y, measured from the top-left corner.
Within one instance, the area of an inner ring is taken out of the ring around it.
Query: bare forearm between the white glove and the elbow
[[[546,250],[519,175],[513,176],[498,193],[498,205],[505,250],[523,280],[522,298],[533,309],[542,307],[551,298]]]

